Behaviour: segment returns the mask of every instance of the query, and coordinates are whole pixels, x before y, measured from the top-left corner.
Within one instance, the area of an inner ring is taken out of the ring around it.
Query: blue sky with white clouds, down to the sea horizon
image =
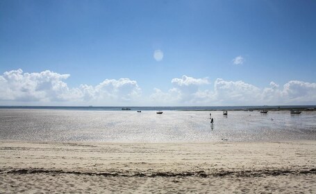
[[[316,105],[316,1],[0,1],[0,105]]]

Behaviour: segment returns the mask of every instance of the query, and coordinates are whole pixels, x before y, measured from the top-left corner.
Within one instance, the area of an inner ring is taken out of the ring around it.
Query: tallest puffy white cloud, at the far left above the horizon
[[[0,99],[19,101],[66,100],[72,92],[63,80],[69,74],[51,71],[40,73],[23,73],[22,69],[6,71],[0,76]]]

